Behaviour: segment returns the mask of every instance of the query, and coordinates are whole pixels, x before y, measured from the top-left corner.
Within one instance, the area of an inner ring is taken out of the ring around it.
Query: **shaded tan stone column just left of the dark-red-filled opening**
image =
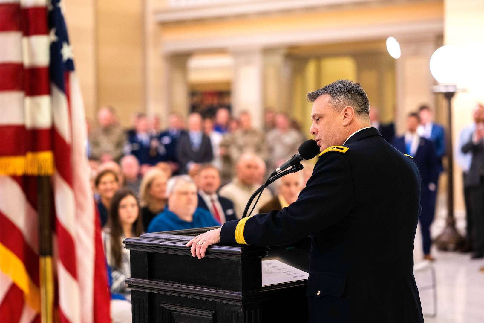
[[[170,112],[178,112],[186,118],[190,112],[187,61],[190,55],[165,57],[164,83],[165,108],[162,118],[166,120]]]

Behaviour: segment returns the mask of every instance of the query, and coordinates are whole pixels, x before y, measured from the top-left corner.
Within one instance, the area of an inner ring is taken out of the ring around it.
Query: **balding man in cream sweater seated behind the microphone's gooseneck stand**
[[[251,195],[259,187],[261,164],[263,164],[263,161],[257,155],[251,153],[242,154],[236,165],[236,177],[232,182],[223,186],[219,191],[220,196],[223,196],[234,203],[237,218],[242,218],[245,205],[249,201]],[[271,199],[272,194],[270,191],[264,190],[252,214],[259,213],[258,206],[264,205]],[[252,209],[254,202],[249,208],[249,212],[250,209]]]

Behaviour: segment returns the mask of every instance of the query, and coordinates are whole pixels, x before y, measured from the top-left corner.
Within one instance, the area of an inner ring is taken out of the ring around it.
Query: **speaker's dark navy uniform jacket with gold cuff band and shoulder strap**
[[[413,277],[417,165],[376,128],[345,147],[320,154],[296,202],[226,222],[220,242],[277,246],[311,235],[310,322],[423,323]]]

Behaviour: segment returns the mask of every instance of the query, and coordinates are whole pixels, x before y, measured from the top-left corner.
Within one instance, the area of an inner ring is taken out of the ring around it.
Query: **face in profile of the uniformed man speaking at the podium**
[[[315,135],[319,150],[322,152],[328,147],[343,145],[345,142],[345,128],[343,127],[343,115],[336,112],[329,104],[331,96],[323,94],[313,103],[311,110],[311,128],[309,132]]]

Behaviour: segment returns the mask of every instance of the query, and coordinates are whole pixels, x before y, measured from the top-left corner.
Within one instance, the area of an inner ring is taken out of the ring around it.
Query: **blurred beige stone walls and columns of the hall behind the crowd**
[[[338,78],[362,83],[380,120],[423,103],[444,123],[429,69],[443,44],[482,52],[480,0],[65,0],[86,110],[105,104],[127,125],[133,112],[188,113],[189,92],[230,91],[232,110],[262,125],[266,107],[309,127],[306,92]],[[400,43],[393,59],[385,40]],[[481,45],[479,45],[481,44]],[[481,46],[481,47],[479,47]],[[481,68],[481,69],[479,69]],[[482,66],[474,66],[474,72]],[[482,73],[454,99],[454,138],[484,101]],[[456,169],[456,174],[459,170]],[[456,207],[462,209],[456,176]],[[443,181],[445,183],[445,181]]]

